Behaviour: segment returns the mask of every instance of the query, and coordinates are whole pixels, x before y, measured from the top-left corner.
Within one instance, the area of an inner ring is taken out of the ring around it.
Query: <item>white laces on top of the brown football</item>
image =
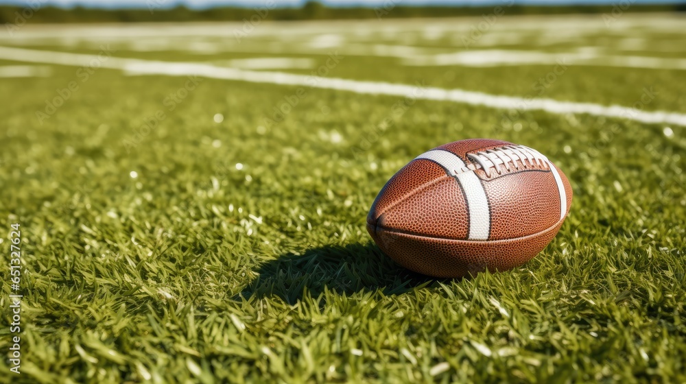
[[[528,167],[548,169],[549,167],[548,159],[545,156],[535,149],[523,145],[507,145],[505,147],[487,149],[483,152],[468,154],[467,157],[477,164],[476,168],[484,169],[486,177],[489,178],[491,169],[495,169],[498,174],[501,174],[499,165],[504,165],[507,171],[512,171],[512,167],[517,171],[519,171],[520,167],[523,167],[523,169],[528,169]],[[469,168],[469,166],[467,167]]]

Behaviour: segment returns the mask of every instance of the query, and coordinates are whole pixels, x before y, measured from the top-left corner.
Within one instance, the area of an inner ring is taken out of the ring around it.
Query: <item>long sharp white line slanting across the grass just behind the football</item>
[[[187,76],[235,80],[242,82],[282,84],[291,86],[307,86],[311,88],[333,89],[368,95],[413,95],[416,99],[453,101],[473,106],[486,106],[499,109],[515,110],[543,110],[554,114],[587,114],[595,116],[613,117],[640,121],[641,123],[669,123],[686,126],[686,115],[676,112],[643,111],[624,106],[602,106],[592,103],[576,103],[558,101],[554,99],[524,99],[522,97],[488,95],[487,93],[464,91],[461,89],[423,88],[421,95],[416,95],[416,86],[410,84],[392,84],[386,82],[364,82],[330,77],[316,77],[311,75],[297,75],[294,73],[272,71],[245,71],[235,68],[217,67],[211,64],[194,62],[163,62],[154,60],[140,60],[131,58],[106,59],[97,55],[80,53],[64,53],[55,51],[37,51],[0,47],[0,58],[22,62],[41,62],[47,64],[62,64],[69,66],[104,67],[120,69],[128,73]]]

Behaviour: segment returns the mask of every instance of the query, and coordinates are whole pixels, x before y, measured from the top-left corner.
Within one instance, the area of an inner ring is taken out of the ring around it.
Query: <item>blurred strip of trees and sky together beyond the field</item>
[[[1,21],[15,21],[14,12],[38,9],[33,23],[97,23],[134,21],[241,21],[252,8],[273,10],[268,20],[376,19],[481,16],[497,5],[507,14],[602,14],[617,12],[678,12],[678,0],[3,0]],[[392,12],[390,12],[392,10]]]

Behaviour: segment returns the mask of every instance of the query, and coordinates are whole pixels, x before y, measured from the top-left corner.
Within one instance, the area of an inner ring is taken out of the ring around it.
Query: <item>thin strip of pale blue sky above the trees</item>
[[[298,6],[305,0],[272,0],[280,6]],[[377,6],[393,0],[320,0],[321,3],[335,6],[368,5]],[[399,5],[491,5],[506,0],[395,0]],[[626,0],[630,1],[630,0]],[[0,0],[0,4],[30,5],[36,2],[45,5],[71,7],[84,5],[96,8],[148,8],[149,5],[173,7],[184,4],[189,8],[210,8],[217,5],[239,5],[248,8],[264,5],[267,0]],[[521,4],[611,4],[619,0],[515,0]],[[633,1],[632,1],[633,2]],[[678,3],[679,0],[636,0],[636,3]]]

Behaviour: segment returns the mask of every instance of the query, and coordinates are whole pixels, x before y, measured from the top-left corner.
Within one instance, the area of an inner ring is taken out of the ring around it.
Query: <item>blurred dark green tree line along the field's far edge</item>
[[[403,6],[400,0],[388,0],[376,8],[329,8],[317,2],[309,2],[302,8],[275,8],[266,1],[255,8],[220,7],[207,10],[191,10],[183,6],[161,8],[161,0],[147,1],[147,8],[102,10],[75,7],[70,9],[42,7],[0,6],[0,22],[7,25],[30,23],[129,23],[153,21],[243,21],[255,15],[273,21],[332,20],[332,19],[384,19],[410,17],[481,16],[493,13],[497,5],[488,7]],[[506,0],[500,7],[507,15],[524,14],[578,14],[612,12],[686,12],[681,4],[632,4],[630,0],[618,0],[613,5],[516,5]]]

